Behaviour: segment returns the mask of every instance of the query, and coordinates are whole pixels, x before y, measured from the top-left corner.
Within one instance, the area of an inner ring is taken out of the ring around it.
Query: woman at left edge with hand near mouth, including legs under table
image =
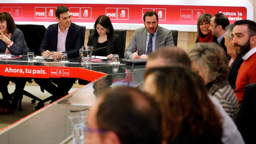
[[[7,12],[0,13],[0,52],[12,55],[25,55],[29,52],[27,43],[25,41],[24,35],[21,30],[19,30],[12,16]],[[14,91],[14,97],[12,102],[12,109],[17,109],[19,97],[22,97],[23,89],[26,85],[26,78],[21,77],[0,77],[0,91],[3,95],[2,103],[4,106],[0,107],[0,114],[12,113],[8,108],[7,104],[10,103],[10,95],[7,90],[7,85],[9,81],[16,84],[16,89]],[[4,111],[1,113],[1,111]]]

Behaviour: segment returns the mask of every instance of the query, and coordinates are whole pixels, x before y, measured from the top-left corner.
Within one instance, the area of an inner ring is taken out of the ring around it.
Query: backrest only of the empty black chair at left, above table
[[[46,28],[43,25],[16,25],[20,29],[25,37],[25,41],[31,52],[35,55],[41,55],[38,53],[38,49],[43,42]]]

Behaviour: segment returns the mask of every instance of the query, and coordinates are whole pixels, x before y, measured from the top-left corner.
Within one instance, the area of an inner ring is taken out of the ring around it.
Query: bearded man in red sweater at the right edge
[[[244,60],[238,70],[234,90],[240,106],[245,86],[256,83],[256,23],[251,20],[239,20],[234,26],[232,43],[236,54],[241,54]]]

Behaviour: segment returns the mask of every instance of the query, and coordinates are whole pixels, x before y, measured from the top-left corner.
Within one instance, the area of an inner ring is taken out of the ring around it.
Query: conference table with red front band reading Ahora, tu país
[[[111,61],[79,62],[78,58],[45,61],[27,56],[15,59],[0,59],[0,74],[11,77],[58,78],[73,77],[85,84],[81,89],[47,105],[0,130],[0,143],[66,143],[71,140],[70,110],[90,108],[98,97],[102,86],[132,86],[143,89],[141,82],[145,65],[109,63]],[[118,71],[113,69],[118,68]]]

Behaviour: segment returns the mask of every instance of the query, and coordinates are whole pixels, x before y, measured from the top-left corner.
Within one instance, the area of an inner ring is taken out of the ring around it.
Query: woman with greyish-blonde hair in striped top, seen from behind
[[[215,43],[198,43],[188,51],[188,56],[193,71],[204,79],[209,93],[235,121],[239,110],[238,100],[228,82],[229,67],[223,49]]]

